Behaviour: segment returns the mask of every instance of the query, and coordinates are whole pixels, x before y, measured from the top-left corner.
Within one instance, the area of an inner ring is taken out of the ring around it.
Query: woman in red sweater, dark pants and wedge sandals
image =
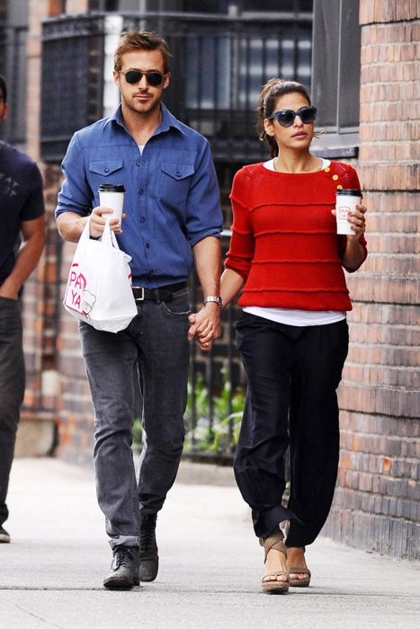
[[[226,306],[242,289],[237,347],[248,388],[235,475],[264,545],[263,589],[282,593],[309,585],[305,546],[316,539],[333,500],[335,390],[348,348],[345,314],[352,309],[343,267],[352,272],[366,258],[366,208],[358,205],[348,218],[353,235],[336,235],[335,192],[360,190],[360,184],[351,166],[310,153],[316,109],[302,84],[271,80],[257,111],[260,138],[273,159],[235,176],[220,294]],[[208,340],[201,336],[201,344]]]

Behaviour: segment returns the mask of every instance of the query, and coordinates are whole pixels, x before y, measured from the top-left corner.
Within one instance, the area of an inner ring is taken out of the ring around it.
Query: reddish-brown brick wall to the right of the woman
[[[362,0],[362,188],[370,256],[349,277],[352,344],[340,387],[342,455],[324,533],[418,558],[419,8]]]

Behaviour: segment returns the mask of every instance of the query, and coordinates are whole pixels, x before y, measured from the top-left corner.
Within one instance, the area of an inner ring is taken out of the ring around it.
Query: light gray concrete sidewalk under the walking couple
[[[308,589],[262,593],[263,549],[228,468],[182,464],[157,519],[157,580],[130,591],[102,587],[111,550],[91,468],[15,459],[9,507],[2,629],[420,626],[418,564],[324,538],[307,550]]]

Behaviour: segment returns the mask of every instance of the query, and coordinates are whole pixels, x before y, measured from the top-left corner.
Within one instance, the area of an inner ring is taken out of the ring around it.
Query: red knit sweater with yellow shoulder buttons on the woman
[[[225,266],[245,280],[238,304],[299,310],[351,310],[336,235],[335,190],[360,190],[348,164],[331,162],[317,173],[276,173],[264,164],[237,172],[234,221]],[[360,243],[367,255],[366,241]]]

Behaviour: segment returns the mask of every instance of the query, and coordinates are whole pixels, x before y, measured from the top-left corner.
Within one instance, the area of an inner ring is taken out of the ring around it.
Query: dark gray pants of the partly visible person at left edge
[[[24,390],[20,306],[0,297],[0,526],[9,515],[5,501]]]

